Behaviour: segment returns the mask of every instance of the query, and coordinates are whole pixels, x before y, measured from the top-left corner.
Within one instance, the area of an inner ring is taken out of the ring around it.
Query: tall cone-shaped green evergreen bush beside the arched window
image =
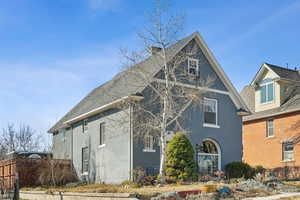
[[[177,133],[167,146],[166,176],[169,182],[197,179],[195,152],[189,139]]]

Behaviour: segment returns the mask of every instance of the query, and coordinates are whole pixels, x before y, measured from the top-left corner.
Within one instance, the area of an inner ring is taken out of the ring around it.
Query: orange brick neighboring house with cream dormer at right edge
[[[300,74],[264,63],[241,96],[252,115],[243,118],[243,160],[266,168],[300,165]]]

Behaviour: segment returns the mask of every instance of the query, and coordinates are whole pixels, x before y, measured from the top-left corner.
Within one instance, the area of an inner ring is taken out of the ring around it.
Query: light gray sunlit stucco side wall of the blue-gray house
[[[105,145],[100,146],[100,123],[105,122]],[[89,181],[118,184],[130,178],[129,109],[109,111],[89,119],[88,132],[82,123],[73,126],[73,163],[82,174],[82,148],[89,148]]]

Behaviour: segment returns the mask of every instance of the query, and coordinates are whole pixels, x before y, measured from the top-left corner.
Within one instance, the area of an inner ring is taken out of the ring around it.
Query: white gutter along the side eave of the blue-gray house
[[[128,100],[134,100],[134,101],[139,101],[139,100],[142,100],[144,97],[142,96],[125,96],[125,97],[122,97],[120,99],[117,99],[111,103],[108,103],[108,104],[105,104],[103,106],[100,106],[98,108],[95,108],[89,112],[86,112],[82,115],[79,115],[77,117],[74,117],[73,119],[70,119],[68,121],[65,121],[64,124],[65,125],[70,125],[70,124],[73,124],[74,122],[78,122],[78,121],[81,121],[87,117],[91,117],[95,114],[98,114],[98,113],[101,113],[105,110],[108,110],[110,108],[113,108],[113,107],[116,107],[117,105],[123,103],[124,101],[128,101]]]

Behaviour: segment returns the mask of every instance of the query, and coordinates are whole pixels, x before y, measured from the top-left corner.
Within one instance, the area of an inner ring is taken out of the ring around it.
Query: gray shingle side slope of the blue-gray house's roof
[[[167,48],[166,54],[168,59],[170,60],[179,50],[191,41],[196,34],[198,33],[195,32]],[[158,56],[150,56],[141,63],[118,73],[110,81],[92,90],[48,132],[53,133],[59,130],[63,127],[64,122],[87,113],[95,108],[108,104],[124,96],[141,92],[148,84],[145,80],[149,80],[150,77],[153,77],[160,70],[161,65],[159,65],[159,62]],[[143,71],[143,76],[147,75],[148,77],[141,77],[141,71]]]

